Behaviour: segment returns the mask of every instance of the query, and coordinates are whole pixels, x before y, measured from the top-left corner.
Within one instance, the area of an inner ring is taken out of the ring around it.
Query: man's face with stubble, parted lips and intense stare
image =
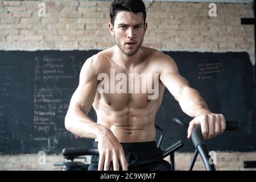
[[[142,13],[118,11],[114,27],[109,24],[110,32],[115,36],[115,43],[121,51],[132,56],[141,47],[147,24],[144,24]]]

